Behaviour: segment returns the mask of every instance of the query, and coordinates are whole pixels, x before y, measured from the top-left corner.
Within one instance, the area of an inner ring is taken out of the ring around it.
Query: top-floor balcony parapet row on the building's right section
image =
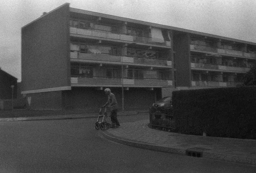
[[[197,44],[191,44],[190,50],[213,52],[213,53],[218,53],[218,54],[226,54],[226,55],[231,55],[231,56],[240,56],[240,57],[245,57],[245,58],[255,58],[256,59],[256,54],[254,54],[254,53],[246,53],[246,52],[235,51],[235,50],[212,48],[212,47],[202,46],[202,45],[197,45]]]

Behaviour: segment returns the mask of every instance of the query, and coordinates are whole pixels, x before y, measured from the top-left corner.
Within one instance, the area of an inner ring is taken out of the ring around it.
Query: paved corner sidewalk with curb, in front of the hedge
[[[149,120],[122,123],[102,131],[112,141],[167,153],[256,166],[256,140],[184,135],[151,129]]]

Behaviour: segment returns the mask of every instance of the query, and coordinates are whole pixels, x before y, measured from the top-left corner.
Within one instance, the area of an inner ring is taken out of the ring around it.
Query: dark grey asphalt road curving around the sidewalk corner
[[[118,117],[120,123],[148,115]],[[256,167],[105,139],[96,119],[0,121],[0,173],[256,173]]]

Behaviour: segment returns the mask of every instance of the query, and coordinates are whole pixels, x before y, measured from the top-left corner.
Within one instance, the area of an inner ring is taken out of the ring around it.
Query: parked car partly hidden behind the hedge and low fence
[[[161,117],[162,114],[172,115],[172,97],[163,97],[150,106],[149,113],[155,114],[155,117]],[[157,115],[156,115],[157,114]]]

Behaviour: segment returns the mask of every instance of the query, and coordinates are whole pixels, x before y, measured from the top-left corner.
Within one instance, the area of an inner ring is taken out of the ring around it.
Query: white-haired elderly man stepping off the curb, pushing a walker
[[[110,118],[112,121],[113,127],[119,127],[120,124],[117,120],[117,102],[116,102],[116,96],[111,92],[109,88],[106,88],[105,90],[106,95],[108,95],[108,101],[106,104],[102,106],[102,108],[105,108],[107,105],[110,108]]]

